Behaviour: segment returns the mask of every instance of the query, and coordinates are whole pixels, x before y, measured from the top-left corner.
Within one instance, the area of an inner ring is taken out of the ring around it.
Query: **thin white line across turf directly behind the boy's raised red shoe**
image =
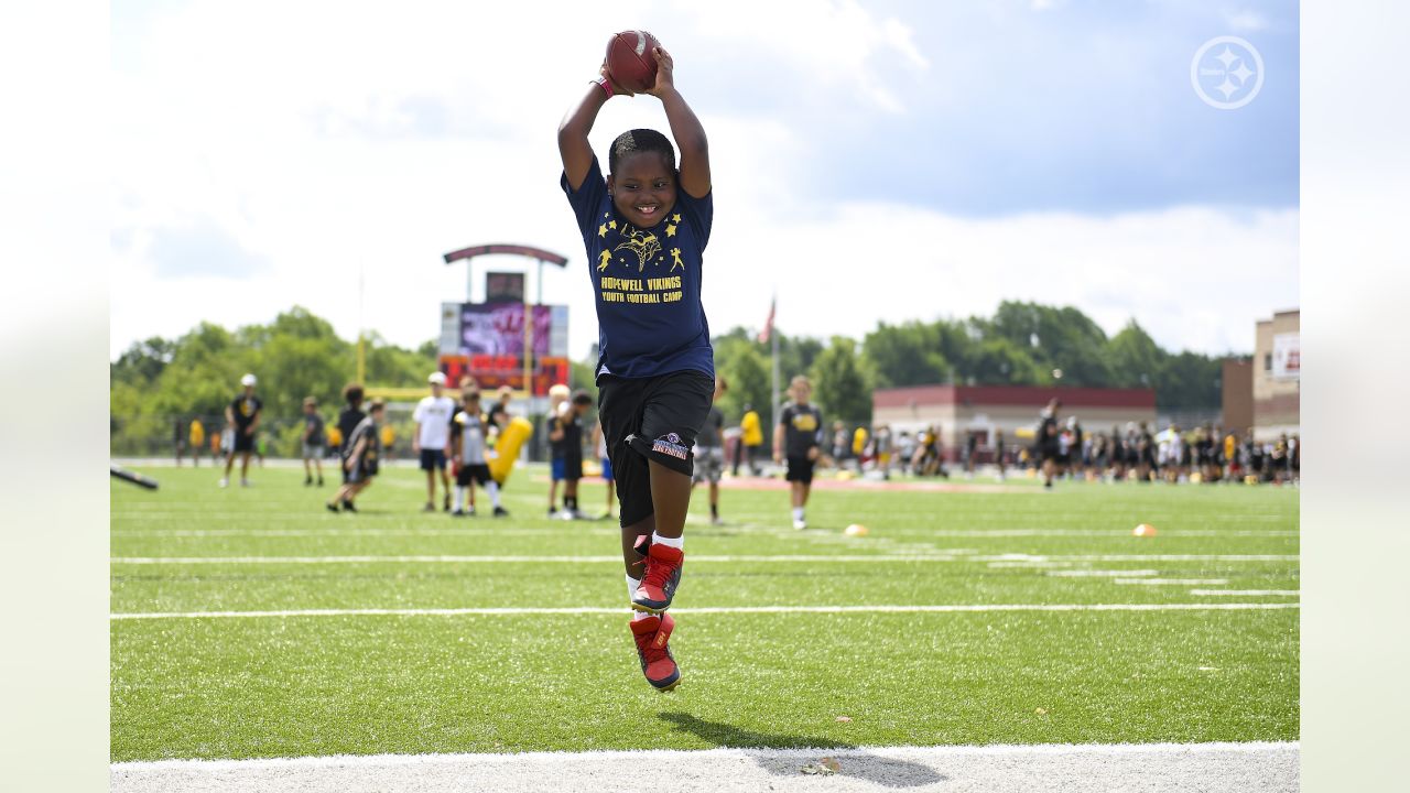
[[[671,614],[957,614],[986,611],[1268,611],[1296,603],[993,603],[948,605],[705,605]],[[118,611],[109,619],[204,619],[217,617],[506,617],[522,614],[629,614],[613,607],[571,608],[310,608],[302,611]]]

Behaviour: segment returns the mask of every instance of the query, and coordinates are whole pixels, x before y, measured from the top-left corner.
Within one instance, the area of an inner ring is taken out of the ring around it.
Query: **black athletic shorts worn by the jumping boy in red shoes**
[[[623,526],[656,512],[649,460],[687,477],[694,474],[691,449],[713,396],[715,378],[701,371],[598,378],[598,418],[616,477]]]

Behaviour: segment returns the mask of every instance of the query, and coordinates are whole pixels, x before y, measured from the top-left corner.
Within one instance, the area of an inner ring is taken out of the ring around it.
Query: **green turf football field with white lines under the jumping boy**
[[[515,474],[499,521],[420,514],[410,467],[357,515],[324,511],[331,487],[302,470],[248,490],[209,467],[142,473],[161,490],[111,485],[111,611],[142,615],[111,622],[113,761],[1297,738],[1290,488],[819,490],[804,532],[785,491],[726,483],[721,528],[698,491],[673,608],[682,683],[660,694],[627,632],[616,523],[547,519],[541,468]],[[603,500],[584,487],[585,511]],[[1159,535],[1131,536],[1142,522]],[[1104,604],[1153,608],[1086,608]],[[916,605],[977,610],[867,608]],[[461,608],[622,611],[357,614]],[[193,615],[313,610],[338,614]]]

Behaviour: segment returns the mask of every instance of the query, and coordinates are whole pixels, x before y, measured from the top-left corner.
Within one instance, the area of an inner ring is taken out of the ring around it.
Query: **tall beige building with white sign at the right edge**
[[[1253,339],[1253,437],[1277,440],[1300,425],[1301,357],[1299,309],[1258,323]]]

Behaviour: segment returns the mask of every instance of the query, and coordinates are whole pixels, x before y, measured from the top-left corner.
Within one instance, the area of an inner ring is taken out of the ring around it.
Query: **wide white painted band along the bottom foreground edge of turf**
[[[832,758],[839,772],[805,775]],[[1142,790],[1296,793],[1297,742],[1034,746],[878,746],[372,755],[252,761],[152,761],[110,766],[113,793],[293,790],[350,793],[609,793],[643,790],[647,769],[680,793],[885,789],[946,793]],[[660,773],[657,776],[660,776]],[[650,777],[650,775],[647,775]]]

